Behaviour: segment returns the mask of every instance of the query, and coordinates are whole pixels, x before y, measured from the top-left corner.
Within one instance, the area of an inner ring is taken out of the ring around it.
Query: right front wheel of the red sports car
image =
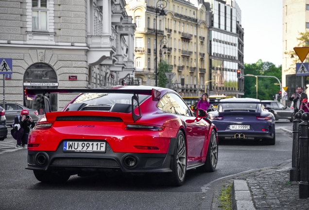
[[[218,143],[216,132],[211,131],[205,165],[197,168],[199,172],[214,172],[218,163]]]

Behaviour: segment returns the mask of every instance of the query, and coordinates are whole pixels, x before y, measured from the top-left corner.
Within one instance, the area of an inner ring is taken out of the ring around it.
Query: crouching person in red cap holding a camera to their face
[[[26,149],[28,144],[28,137],[30,129],[34,128],[34,121],[29,116],[29,111],[23,109],[20,115],[17,115],[12,124],[11,134],[15,140],[17,140],[16,149]]]

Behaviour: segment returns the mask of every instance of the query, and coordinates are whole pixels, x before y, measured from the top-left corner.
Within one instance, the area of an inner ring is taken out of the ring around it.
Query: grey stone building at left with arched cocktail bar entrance
[[[133,84],[136,26],[124,7],[124,0],[1,1],[0,58],[13,59],[11,78],[0,81],[5,101],[36,109],[25,88]],[[51,109],[73,97],[51,95]]]

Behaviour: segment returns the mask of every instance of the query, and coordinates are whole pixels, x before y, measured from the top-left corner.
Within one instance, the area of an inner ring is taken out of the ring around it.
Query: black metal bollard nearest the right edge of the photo
[[[302,115],[303,122],[300,126],[300,182],[299,182],[299,198],[309,197],[308,179],[309,179],[309,163],[308,163],[308,140],[309,140],[309,113],[305,112]]]

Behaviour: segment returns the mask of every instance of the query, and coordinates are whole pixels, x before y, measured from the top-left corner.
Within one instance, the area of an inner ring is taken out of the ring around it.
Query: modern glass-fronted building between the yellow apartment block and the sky
[[[211,0],[208,84],[211,95],[244,95],[243,37],[241,10],[234,0]],[[237,70],[241,78],[237,78]]]

